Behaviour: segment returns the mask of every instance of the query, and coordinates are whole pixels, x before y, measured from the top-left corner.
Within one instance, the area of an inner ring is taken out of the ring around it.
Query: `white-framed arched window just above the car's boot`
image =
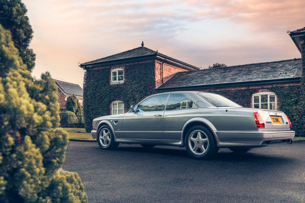
[[[277,110],[274,92],[259,92],[252,95],[252,107],[257,109]]]

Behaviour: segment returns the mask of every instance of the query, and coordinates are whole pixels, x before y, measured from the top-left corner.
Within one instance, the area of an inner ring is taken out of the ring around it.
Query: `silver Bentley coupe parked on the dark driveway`
[[[125,114],[94,119],[92,127],[102,149],[119,143],[180,146],[197,159],[210,158],[219,148],[242,153],[292,144],[295,135],[284,112],[243,108],[219,94],[196,91],[153,94]]]

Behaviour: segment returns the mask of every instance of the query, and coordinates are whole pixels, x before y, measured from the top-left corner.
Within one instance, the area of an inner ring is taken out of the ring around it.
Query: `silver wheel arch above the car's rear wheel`
[[[214,133],[214,130],[216,130],[215,126],[207,119],[205,118],[192,118],[190,120],[188,120],[188,122],[185,123],[185,125],[182,128],[182,135],[181,135],[181,142],[184,145],[184,139],[185,136],[188,132],[189,129],[191,129],[193,126],[204,126],[206,127],[208,130],[210,130],[210,133],[212,133],[213,138],[215,139],[215,142],[219,143],[218,139],[217,139],[217,135]]]

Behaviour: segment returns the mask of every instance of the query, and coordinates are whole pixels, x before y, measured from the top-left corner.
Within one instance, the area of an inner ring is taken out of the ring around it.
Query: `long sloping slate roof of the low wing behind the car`
[[[157,90],[299,79],[302,74],[301,63],[301,59],[289,59],[179,72],[160,85]]]

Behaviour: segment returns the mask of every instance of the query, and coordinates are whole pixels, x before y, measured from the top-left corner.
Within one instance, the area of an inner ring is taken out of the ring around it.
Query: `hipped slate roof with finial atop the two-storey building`
[[[146,47],[138,47],[138,48],[134,48],[134,49],[131,49],[131,50],[128,50],[128,51],[125,51],[125,52],[121,52],[121,53],[118,53],[118,54],[114,54],[114,55],[111,55],[111,56],[106,56],[106,57],[101,58],[101,59],[96,59],[96,60],[93,60],[93,61],[81,63],[80,67],[84,68],[85,66],[90,66],[90,65],[95,65],[95,64],[103,64],[103,63],[107,63],[107,62],[121,62],[121,61],[124,61],[126,59],[138,60],[139,58],[144,58],[144,57],[149,57],[149,56],[152,56],[152,57],[153,56],[160,56],[160,57],[163,57],[163,58],[166,57],[167,60],[171,60],[171,61],[180,63],[180,64],[188,66],[192,69],[199,69],[196,66],[192,66],[188,63],[185,63],[185,62],[180,61],[178,59],[174,59],[172,57],[161,54],[158,51],[154,51],[154,50],[151,50],[151,49],[146,48]]]

